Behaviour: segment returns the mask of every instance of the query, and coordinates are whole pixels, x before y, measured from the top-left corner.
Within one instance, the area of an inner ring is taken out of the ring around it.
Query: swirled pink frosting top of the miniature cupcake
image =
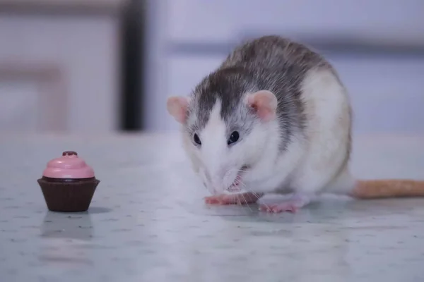
[[[76,152],[69,151],[49,161],[42,175],[49,178],[91,178],[94,171]]]

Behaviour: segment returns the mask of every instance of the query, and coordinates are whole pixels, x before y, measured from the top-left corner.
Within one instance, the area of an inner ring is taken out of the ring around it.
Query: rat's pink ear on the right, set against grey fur
[[[268,90],[260,90],[247,96],[247,104],[251,106],[262,121],[271,121],[276,117],[277,97]]]

